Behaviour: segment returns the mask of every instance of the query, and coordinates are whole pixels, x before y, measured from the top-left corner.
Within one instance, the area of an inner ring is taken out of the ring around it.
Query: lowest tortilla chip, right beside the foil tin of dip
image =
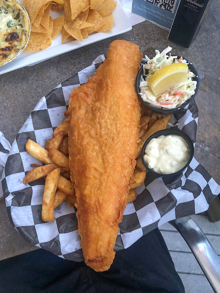
[[[51,37],[47,34],[32,32],[25,51],[43,50],[51,45]]]

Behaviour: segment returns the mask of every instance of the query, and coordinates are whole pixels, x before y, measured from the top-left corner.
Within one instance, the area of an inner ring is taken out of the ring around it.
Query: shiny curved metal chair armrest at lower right
[[[169,223],[180,233],[190,247],[212,289],[216,293],[220,293],[220,259],[206,235],[188,216]]]

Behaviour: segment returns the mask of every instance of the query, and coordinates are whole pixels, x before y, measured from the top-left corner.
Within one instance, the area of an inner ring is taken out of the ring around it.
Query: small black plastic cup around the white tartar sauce
[[[157,138],[157,137],[159,137],[161,135],[165,135],[165,136],[167,136],[167,135],[179,135],[182,138],[184,138],[184,140],[188,144],[188,147],[189,147],[189,150],[190,150],[190,158],[189,158],[188,162],[186,163],[186,165],[182,169],[180,169],[179,171],[177,171],[175,173],[163,174],[163,173],[156,172],[153,169],[151,169],[150,167],[148,167],[147,163],[144,160],[146,145],[150,142],[150,140],[152,138]],[[187,168],[187,166],[190,164],[190,162],[191,162],[191,160],[193,158],[193,155],[194,155],[194,146],[193,146],[193,142],[192,142],[191,138],[186,133],[184,133],[183,131],[178,130],[178,129],[163,129],[163,130],[155,132],[154,134],[152,134],[146,140],[146,142],[143,145],[142,151],[141,151],[142,162],[150,172],[152,172],[155,175],[157,175],[157,177],[163,177],[163,178],[171,179],[171,180],[172,180],[172,178],[176,177],[177,175],[179,175],[181,172],[183,172]]]

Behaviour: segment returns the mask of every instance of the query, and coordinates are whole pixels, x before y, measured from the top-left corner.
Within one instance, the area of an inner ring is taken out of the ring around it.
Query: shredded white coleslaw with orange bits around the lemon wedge
[[[171,90],[160,96],[156,97],[147,85],[147,80],[150,76],[160,68],[174,62],[185,63],[187,65],[189,64],[185,59],[183,59],[183,57],[177,59],[177,56],[171,56],[171,54],[169,54],[169,56],[166,55],[171,50],[172,48],[170,46],[168,46],[161,53],[158,50],[155,50],[156,56],[152,59],[145,55],[147,63],[143,65],[144,72],[140,77],[140,96],[143,101],[156,108],[174,109],[182,105],[186,100],[190,99],[190,97],[195,94],[197,81],[192,80],[192,78],[195,77],[195,74],[191,72],[190,69],[187,73],[188,80],[185,83],[177,84]],[[147,74],[146,70],[148,70]]]

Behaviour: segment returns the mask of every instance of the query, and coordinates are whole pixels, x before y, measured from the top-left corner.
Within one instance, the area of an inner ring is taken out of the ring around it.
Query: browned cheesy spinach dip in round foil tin
[[[22,5],[15,0],[0,0],[0,66],[25,48],[29,31],[28,14]]]

